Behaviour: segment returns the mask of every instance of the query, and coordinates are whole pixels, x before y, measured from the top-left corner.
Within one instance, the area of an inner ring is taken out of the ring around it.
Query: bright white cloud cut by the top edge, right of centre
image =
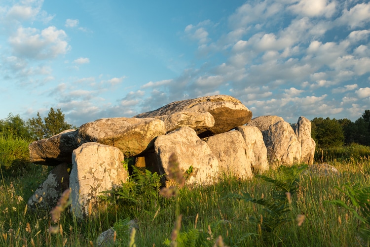
[[[336,2],[328,0],[300,0],[288,7],[296,14],[315,17],[331,17],[335,13]]]

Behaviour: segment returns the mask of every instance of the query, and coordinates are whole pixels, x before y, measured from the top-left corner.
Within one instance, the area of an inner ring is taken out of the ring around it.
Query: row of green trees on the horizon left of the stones
[[[49,138],[59,134],[63,130],[76,128],[65,121],[61,109],[50,108],[45,118],[41,118],[39,112],[37,117],[24,121],[19,115],[8,115],[6,119],[0,120],[0,134],[5,137],[20,137],[30,141]]]

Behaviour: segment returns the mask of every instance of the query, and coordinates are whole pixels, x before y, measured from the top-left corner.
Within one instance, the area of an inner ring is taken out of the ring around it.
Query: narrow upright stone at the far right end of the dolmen
[[[302,149],[300,162],[312,165],[316,143],[311,138],[311,121],[305,117],[299,117],[298,122],[295,125],[295,132]]]

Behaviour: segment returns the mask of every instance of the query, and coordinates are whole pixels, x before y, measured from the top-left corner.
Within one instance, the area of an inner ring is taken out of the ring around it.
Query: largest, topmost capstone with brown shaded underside
[[[209,112],[215,119],[214,126],[199,133],[200,137],[226,132],[236,126],[248,123],[252,118],[252,112],[247,107],[228,95],[176,101],[157,110],[136,115],[135,118],[154,118],[184,111]]]

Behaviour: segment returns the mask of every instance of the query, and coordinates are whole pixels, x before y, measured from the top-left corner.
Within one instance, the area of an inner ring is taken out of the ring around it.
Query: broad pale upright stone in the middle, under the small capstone
[[[179,167],[184,174],[192,166],[193,172],[188,177],[187,184],[210,184],[219,171],[216,156],[192,128],[181,127],[159,136],[154,142],[154,149],[160,174],[168,174],[168,161],[172,153],[177,155]]]

